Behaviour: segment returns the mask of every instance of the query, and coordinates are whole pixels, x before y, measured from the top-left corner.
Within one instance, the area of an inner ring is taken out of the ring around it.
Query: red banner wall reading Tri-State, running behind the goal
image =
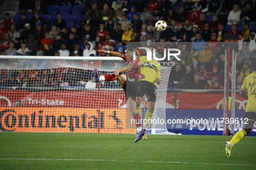
[[[223,91],[212,92],[177,92],[178,109],[218,109],[224,98]],[[94,97],[93,97],[94,96]],[[100,96],[96,98],[95,96]],[[86,90],[0,90],[0,106],[13,106],[21,101],[24,107],[82,107],[82,108],[126,108],[124,91],[86,91]],[[166,109],[174,108],[174,96],[171,92],[166,96]],[[245,110],[247,100],[236,95],[239,110]],[[141,108],[148,106],[146,96]]]

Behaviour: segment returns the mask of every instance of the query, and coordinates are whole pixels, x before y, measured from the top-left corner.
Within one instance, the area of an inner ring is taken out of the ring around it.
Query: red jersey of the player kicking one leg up
[[[136,79],[136,80],[139,81],[139,80],[140,80],[140,76],[141,76],[141,73],[140,73],[140,65],[139,65],[139,62],[140,62],[139,56],[136,56],[136,59],[133,60],[133,57],[130,58],[130,59],[127,59],[127,58],[126,58],[126,54],[122,54],[122,55],[121,55],[121,58],[122,58],[124,61],[126,61],[127,66],[128,66],[128,65],[133,66],[132,69],[126,71],[126,76],[129,77],[129,78],[134,78],[134,79]]]

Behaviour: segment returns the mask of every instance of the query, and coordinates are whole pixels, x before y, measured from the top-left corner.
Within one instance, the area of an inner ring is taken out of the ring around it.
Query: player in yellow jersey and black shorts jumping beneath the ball
[[[149,120],[152,119],[154,110],[155,110],[155,104],[156,104],[156,93],[157,93],[157,88],[156,84],[161,83],[161,76],[160,76],[160,71],[161,71],[161,66],[159,63],[153,58],[153,49],[157,49],[156,44],[150,44],[149,48],[152,52],[152,59],[147,60],[147,56],[141,56],[140,57],[140,63],[141,63],[141,74],[142,78],[139,82],[139,92],[137,94],[136,98],[136,103],[137,103],[137,111],[141,115],[141,109],[140,109],[140,104],[142,102],[143,96],[146,94],[148,104],[149,104],[149,109],[146,112],[145,119],[145,124],[143,126],[144,130],[148,129],[149,126]],[[156,52],[156,51],[155,51]],[[155,64],[154,64],[155,63]],[[136,132],[135,132],[136,133]],[[147,134],[143,136],[143,139],[146,140]]]

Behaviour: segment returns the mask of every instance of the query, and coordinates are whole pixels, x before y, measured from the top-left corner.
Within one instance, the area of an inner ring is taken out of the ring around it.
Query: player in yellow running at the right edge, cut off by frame
[[[248,100],[246,110],[245,110],[245,120],[246,123],[243,126],[243,130],[240,130],[237,132],[234,137],[230,140],[230,142],[226,142],[225,144],[225,154],[227,157],[230,157],[231,148],[233,145],[235,145],[237,142],[240,141],[244,136],[248,135],[251,130],[253,129],[253,125],[256,121],[256,61],[253,61],[251,63],[251,69],[253,70],[253,73],[248,75],[243,80],[243,85],[241,87],[240,95]],[[248,91],[248,94],[246,94],[246,91]]]

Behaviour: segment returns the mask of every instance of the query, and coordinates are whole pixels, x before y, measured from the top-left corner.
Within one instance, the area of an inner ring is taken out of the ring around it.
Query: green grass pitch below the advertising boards
[[[256,137],[224,154],[230,136],[0,132],[4,170],[255,170]]]

